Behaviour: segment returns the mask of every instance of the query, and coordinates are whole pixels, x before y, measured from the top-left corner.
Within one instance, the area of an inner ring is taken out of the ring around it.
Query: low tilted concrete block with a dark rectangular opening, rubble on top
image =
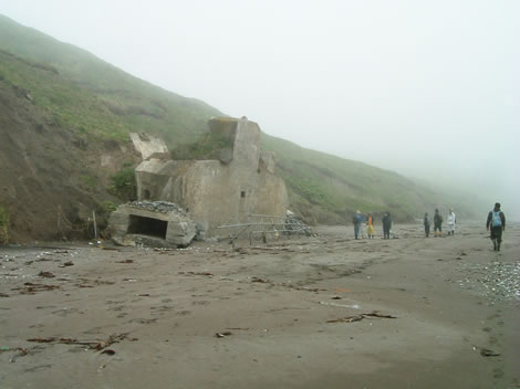
[[[133,201],[119,206],[108,220],[112,240],[121,245],[186,246],[196,234],[188,212],[166,201]]]

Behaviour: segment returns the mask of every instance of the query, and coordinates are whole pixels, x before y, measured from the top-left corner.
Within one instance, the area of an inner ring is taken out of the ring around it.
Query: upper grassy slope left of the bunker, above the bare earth
[[[35,104],[71,129],[124,139],[128,132],[162,135],[168,144],[185,143],[206,130],[220,112],[131,76],[91,53],[22,27],[0,15],[0,49],[48,66],[44,80],[4,70],[4,76],[31,91]],[[51,70],[58,71],[59,74]]]

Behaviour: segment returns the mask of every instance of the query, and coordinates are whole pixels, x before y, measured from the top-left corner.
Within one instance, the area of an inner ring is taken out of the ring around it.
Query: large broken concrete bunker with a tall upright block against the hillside
[[[216,227],[221,224],[247,222],[251,214],[285,217],[285,183],[274,175],[274,155],[260,149],[258,124],[246,117],[218,117],[208,126],[209,134],[222,140],[209,159],[174,160],[164,144],[133,135],[144,158],[135,170],[138,200],[188,209],[202,236],[218,234]]]

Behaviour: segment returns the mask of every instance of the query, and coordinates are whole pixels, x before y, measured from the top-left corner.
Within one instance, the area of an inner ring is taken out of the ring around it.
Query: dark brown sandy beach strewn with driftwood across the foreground
[[[520,227],[480,224],[0,248],[1,388],[519,388]]]

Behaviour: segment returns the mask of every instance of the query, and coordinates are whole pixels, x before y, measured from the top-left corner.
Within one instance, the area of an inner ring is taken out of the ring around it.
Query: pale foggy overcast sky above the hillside
[[[0,0],[0,13],[270,135],[520,202],[518,0]]]

